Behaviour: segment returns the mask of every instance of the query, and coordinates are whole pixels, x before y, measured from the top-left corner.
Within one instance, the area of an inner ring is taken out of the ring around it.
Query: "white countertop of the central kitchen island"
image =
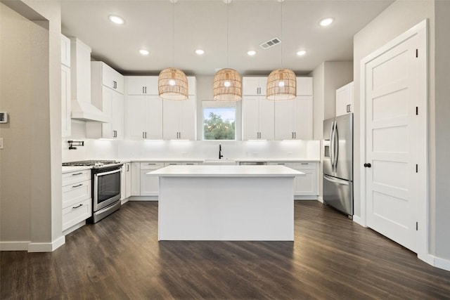
[[[284,166],[169,166],[146,173],[161,177],[293,177],[305,174]]]

